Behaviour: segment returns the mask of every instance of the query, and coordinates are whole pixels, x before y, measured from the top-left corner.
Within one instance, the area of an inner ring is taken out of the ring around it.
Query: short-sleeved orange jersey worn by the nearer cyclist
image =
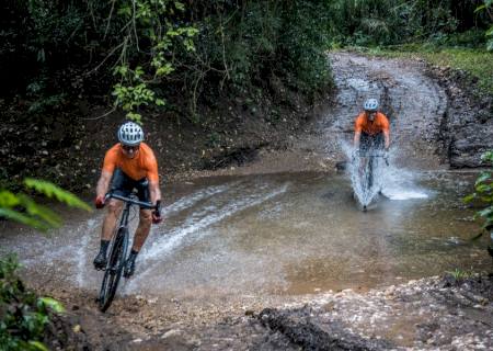
[[[145,143],[140,143],[139,150],[134,158],[128,158],[123,154],[119,143],[107,150],[104,157],[103,171],[113,173],[115,168],[122,169],[125,174],[134,180],[146,177],[150,181],[159,182],[158,161],[152,149]]]

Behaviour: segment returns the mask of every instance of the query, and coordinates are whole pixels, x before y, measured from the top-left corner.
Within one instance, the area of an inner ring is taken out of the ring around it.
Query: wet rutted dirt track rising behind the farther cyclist
[[[391,157],[399,166],[435,170],[448,168],[449,98],[428,67],[416,60],[368,58],[349,53],[330,55],[336,84],[335,101],[319,109],[301,135],[288,136],[287,150],[260,151],[256,161],[214,174],[255,174],[279,171],[335,170],[346,159],[354,120],[364,101],[374,97],[391,122]],[[486,143],[489,140],[484,140]],[[200,173],[199,173],[200,174]],[[209,174],[209,173],[207,173]]]

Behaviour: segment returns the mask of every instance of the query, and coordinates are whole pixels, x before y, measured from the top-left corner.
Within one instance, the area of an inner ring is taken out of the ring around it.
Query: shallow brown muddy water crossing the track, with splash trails
[[[399,174],[398,178],[394,176]],[[393,180],[393,183],[392,183]],[[344,174],[207,178],[172,185],[124,294],[305,294],[485,269],[483,242],[459,197],[471,176],[389,172],[383,194],[358,210]],[[101,214],[53,237],[2,238],[41,284],[96,291]],[[484,257],[484,258],[483,258]]]

